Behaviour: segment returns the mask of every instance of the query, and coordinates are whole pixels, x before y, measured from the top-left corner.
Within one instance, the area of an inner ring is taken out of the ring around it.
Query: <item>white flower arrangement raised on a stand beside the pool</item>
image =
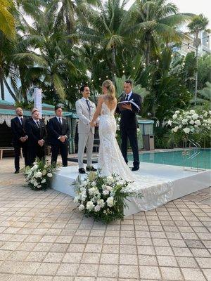
[[[203,136],[211,127],[211,111],[196,112],[195,110],[174,112],[167,126],[172,127],[172,133],[180,134],[182,137],[201,135]]]

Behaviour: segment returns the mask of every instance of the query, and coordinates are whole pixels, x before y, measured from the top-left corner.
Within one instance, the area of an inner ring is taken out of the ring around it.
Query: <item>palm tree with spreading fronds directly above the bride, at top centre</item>
[[[106,60],[113,81],[115,73],[120,76],[117,57],[122,58],[122,50],[132,42],[133,34],[129,27],[134,18],[130,10],[124,9],[127,3],[128,0],[108,0],[99,4],[98,9],[89,9],[86,13],[89,25],[82,24],[77,32],[83,41],[98,48],[100,59]]]

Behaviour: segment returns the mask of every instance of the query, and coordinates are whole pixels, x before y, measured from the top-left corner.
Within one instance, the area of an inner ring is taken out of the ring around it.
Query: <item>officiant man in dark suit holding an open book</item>
[[[124,81],[124,93],[122,94],[120,101],[129,101],[132,100],[136,105],[141,109],[141,96],[132,91],[132,81]],[[132,171],[139,170],[139,148],[137,140],[137,119],[136,114],[139,113],[134,105],[123,104],[124,110],[120,112],[117,107],[117,113],[121,114],[120,120],[120,133],[121,133],[121,151],[124,157],[124,161],[127,163],[127,143],[129,139],[130,146],[132,148],[133,157],[134,157],[134,166]]]

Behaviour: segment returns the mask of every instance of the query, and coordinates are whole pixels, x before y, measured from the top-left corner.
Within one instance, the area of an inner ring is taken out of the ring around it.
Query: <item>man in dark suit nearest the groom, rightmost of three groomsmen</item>
[[[63,118],[63,110],[60,106],[55,107],[55,117],[49,120],[48,131],[51,143],[51,164],[56,164],[58,153],[63,160],[63,166],[68,166],[68,139],[70,129],[68,121]]]

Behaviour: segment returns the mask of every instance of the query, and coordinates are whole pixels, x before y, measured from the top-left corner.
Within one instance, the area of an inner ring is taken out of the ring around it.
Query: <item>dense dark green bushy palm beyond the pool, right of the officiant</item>
[[[151,67],[148,72],[148,67]],[[146,67],[149,75],[148,94],[143,103],[143,116],[151,116],[162,127],[163,122],[172,116],[172,112],[185,108],[191,99],[191,93],[174,65],[171,49],[165,48],[159,58],[158,65]]]

